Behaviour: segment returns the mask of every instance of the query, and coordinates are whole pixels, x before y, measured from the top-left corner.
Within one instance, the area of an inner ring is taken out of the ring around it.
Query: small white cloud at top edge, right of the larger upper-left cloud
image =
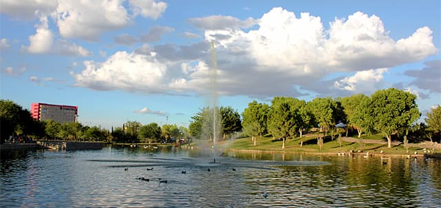
[[[153,19],[161,17],[167,8],[167,3],[163,1],[129,0],[129,2],[135,15],[141,14],[143,17],[151,17]]]

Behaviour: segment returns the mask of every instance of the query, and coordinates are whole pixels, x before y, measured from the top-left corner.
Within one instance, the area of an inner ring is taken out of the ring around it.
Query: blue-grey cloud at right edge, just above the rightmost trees
[[[408,70],[405,75],[415,78],[411,82],[422,90],[441,92],[441,60],[427,61],[421,70]]]

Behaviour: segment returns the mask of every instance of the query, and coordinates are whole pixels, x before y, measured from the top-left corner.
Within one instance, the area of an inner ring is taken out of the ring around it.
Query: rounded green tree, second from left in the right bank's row
[[[282,149],[289,136],[298,130],[298,110],[294,107],[294,98],[274,97],[268,114],[268,132],[274,137],[282,138]]]

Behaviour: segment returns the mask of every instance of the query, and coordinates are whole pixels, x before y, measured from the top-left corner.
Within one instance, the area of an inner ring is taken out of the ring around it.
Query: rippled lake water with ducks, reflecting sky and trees
[[[210,162],[174,148],[3,151],[0,207],[441,205],[441,160],[229,153]]]

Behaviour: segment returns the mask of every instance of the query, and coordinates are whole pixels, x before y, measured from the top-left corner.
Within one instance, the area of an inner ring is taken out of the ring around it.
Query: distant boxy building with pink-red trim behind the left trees
[[[53,120],[58,123],[76,121],[78,107],[71,105],[54,105],[48,103],[32,103],[30,105],[32,118],[38,121]]]

